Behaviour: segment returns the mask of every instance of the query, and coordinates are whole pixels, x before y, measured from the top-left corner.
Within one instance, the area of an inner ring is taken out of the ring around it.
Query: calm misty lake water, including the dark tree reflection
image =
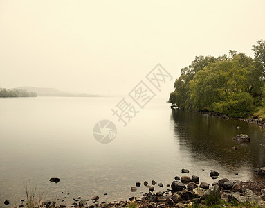
[[[124,127],[111,112],[120,100],[0,99],[0,207],[6,199],[12,205],[26,200],[29,181],[37,185],[37,195],[44,191],[42,198],[57,203],[69,204],[78,196],[91,203],[95,195],[108,202],[147,192],[142,185],[131,193],[135,182],[171,184],[181,168],[211,184],[216,180],[210,170],[230,180],[250,180],[256,177],[253,167],[265,166],[264,131],[257,125],[171,110],[170,103],[157,98]],[[102,119],[118,129],[110,144],[93,138],[93,127]],[[240,133],[251,140],[234,151],[232,137]],[[49,182],[51,177],[60,182]],[[155,186],[155,191],[165,189]]]

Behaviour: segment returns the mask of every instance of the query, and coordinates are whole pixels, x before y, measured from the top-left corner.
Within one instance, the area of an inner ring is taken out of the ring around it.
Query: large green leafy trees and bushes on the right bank
[[[180,108],[209,110],[232,117],[253,114],[264,105],[265,42],[253,46],[255,58],[230,50],[230,56],[199,56],[181,69],[170,102]]]

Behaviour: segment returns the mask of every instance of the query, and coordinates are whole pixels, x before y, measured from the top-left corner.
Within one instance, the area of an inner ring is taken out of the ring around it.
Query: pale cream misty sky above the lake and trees
[[[127,94],[160,63],[253,56],[265,1],[0,1],[0,87]],[[174,80],[161,94],[173,91]]]

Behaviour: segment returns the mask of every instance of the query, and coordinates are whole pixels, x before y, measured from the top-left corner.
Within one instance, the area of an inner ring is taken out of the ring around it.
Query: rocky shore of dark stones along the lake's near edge
[[[216,182],[200,181],[199,176],[190,174],[188,169],[182,169],[179,175],[174,176],[171,184],[162,182],[136,182],[130,187],[131,197],[125,201],[104,202],[99,196],[93,196],[90,199],[81,197],[73,198],[73,202],[68,205],[58,205],[58,202],[44,200],[38,207],[203,207],[216,206],[221,207],[265,207],[265,167],[253,169],[257,175],[260,175],[259,181],[241,182],[237,180],[228,180],[221,178],[217,171],[210,171],[210,177]],[[59,182],[59,179],[51,179],[51,182]],[[145,187],[145,193],[140,192],[141,196],[136,197],[138,187]],[[159,189],[158,189],[159,188]],[[161,188],[163,191],[161,191]],[[160,190],[160,191],[156,191]],[[105,193],[107,194],[107,193]],[[24,201],[24,200],[23,200]],[[90,202],[89,202],[90,201]],[[88,205],[88,202],[93,205]],[[5,205],[10,205],[6,200]],[[12,206],[14,207],[14,206]],[[17,207],[17,206],[15,206]],[[24,205],[19,207],[30,207],[25,201]]]

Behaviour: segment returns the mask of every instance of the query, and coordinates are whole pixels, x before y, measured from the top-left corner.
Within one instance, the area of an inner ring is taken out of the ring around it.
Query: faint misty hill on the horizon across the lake
[[[36,92],[38,96],[60,96],[60,97],[98,97],[98,95],[86,93],[69,93],[63,92],[55,88],[46,87],[16,87],[16,89],[25,89],[28,92]]]

